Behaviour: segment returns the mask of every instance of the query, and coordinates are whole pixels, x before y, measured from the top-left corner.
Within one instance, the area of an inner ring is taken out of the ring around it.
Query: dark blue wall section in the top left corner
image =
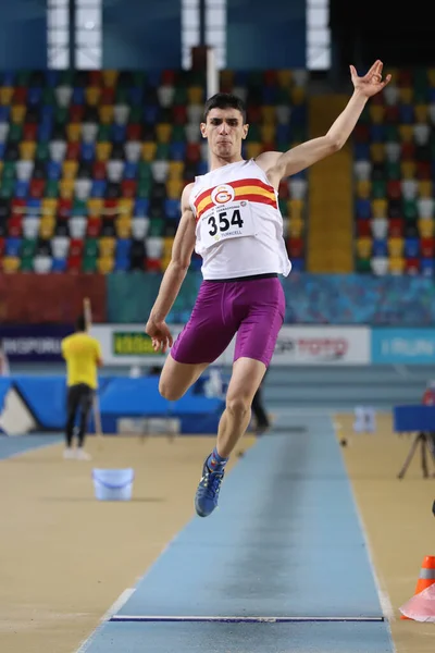
[[[46,2],[0,0],[0,70],[46,69]]]

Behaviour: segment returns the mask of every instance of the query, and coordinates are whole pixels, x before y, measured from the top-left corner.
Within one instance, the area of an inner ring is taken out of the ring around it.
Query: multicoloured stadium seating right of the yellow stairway
[[[353,134],[356,270],[434,274],[435,70],[395,70]]]

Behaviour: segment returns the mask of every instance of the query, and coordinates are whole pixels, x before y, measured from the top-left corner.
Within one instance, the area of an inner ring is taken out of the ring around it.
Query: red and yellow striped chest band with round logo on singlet
[[[209,211],[213,206],[241,200],[257,201],[277,209],[273,186],[264,184],[264,182],[257,178],[238,180],[228,184],[219,184],[219,186],[209,188],[198,195],[194,201],[197,211],[197,221],[201,218],[202,213]]]

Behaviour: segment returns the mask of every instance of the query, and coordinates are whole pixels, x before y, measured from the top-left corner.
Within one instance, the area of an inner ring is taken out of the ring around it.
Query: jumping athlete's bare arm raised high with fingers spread
[[[341,149],[352,133],[368,99],[385,88],[390,81],[391,75],[382,79],[382,69],[383,63],[377,60],[364,76],[359,77],[355,67],[350,66],[353,94],[324,136],[307,140],[284,153],[264,152],[256,159],[275,187],[283,177],[296,174]]]

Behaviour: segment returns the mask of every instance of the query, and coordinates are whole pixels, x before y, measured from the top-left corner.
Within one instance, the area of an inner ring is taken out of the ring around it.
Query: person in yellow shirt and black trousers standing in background
[[[63,456],[89,460],[89,454],[84,451],[86,426],[98,387],[97,368],[102,366],[102,355],[98,340],[87,333],[84,317],[78,318],[76,332],[63,338],[62,356],[66,361],[67,384],[66,447]],[[74,451],[72,445],[77,412],[77,449]]]

